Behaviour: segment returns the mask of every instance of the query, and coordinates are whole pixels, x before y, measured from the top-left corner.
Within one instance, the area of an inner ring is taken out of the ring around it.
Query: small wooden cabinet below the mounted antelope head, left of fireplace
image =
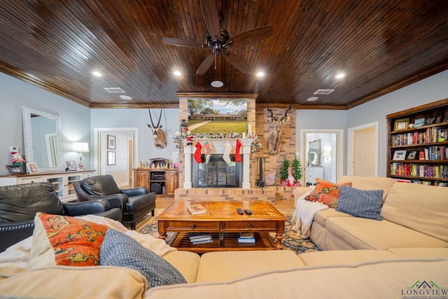
[[[134,188],[146,187],[149,192],[174,196],[174,190],[179,188],[178,169],[165,168],[135,168]]]

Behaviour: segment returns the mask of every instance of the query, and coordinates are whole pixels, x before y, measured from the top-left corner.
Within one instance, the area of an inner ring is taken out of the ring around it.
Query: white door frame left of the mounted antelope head
[[[94,146],[94,157],[93,162],[97,168],[97,174],[102,173],[102,165],[101,165],[101,155],[102,148],[106,148],[106,143],[101,142],[101,133],[102,132],[132,132],[133,134],[133,148],[134,148],[134,168],[137,168],[139,161],[139,151],[137,148],[137,144],[139,144],[139,128],[138,127],[94,127],[93,128],[93,146]]]

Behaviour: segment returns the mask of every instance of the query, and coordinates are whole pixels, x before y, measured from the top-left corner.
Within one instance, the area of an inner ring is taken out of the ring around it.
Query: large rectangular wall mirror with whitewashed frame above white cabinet
[[[39,172],[64,171],[61,117],[22,107],[25,160],[36,163]]]

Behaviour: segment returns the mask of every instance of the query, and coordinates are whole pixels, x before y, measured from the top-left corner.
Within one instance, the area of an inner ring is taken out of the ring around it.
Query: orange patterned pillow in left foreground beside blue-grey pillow
[[[42,212],[36,218],[48,237],[56,265],[99,265],[99,250],[108,226]]]

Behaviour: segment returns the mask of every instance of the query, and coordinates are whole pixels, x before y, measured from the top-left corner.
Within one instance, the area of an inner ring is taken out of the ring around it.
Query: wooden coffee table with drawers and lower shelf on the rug
[[[192,215],[187,209],[190,204],[202,204],[206,214]],[[249,209],[251,215],[239,215],[237,208]],[[197,253],[210,251],[283,249],[281,241],[287,220],[269,202],[191,202],[176,201],[159,216],[158,231],[161,239],[167,238],[167,232],[174,232],[169,245],[179,250]],[[276,232],[276,243],[269,232]],[[213,243],[193,245],[188,232],[210,232]],[[253,232],[255,244],[239,243],[238,232]]]

